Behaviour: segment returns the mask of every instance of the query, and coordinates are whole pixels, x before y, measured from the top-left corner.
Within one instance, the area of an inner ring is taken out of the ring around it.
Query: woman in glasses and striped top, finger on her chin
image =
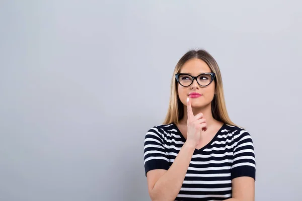
[[[144,140],[152,200],[254,200],[256,162],[250,134],[226,112],[222,80],[204,50],[177,63],[162,125]]]

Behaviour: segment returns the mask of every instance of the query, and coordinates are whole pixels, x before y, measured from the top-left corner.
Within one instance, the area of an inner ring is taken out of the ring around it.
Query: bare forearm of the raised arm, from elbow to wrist
[[[152,190],[152,200],[174,200],[185,179],[195,146],[185,143],[176,156],[171,167],[155,183]]]

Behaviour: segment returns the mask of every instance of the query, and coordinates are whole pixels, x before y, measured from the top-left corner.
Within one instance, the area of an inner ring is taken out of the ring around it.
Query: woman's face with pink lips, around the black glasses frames
[[[209,66],[202,61],[201,59],[190,59],[188,60],[181,68],[179,73],[187,73],[193,76],[198,76],[202,73],[211,72]],[[207,76],[198,77],[198,82],[202,85],[203,82],[206,82],[206,79],[209,78]],[[184,82],[189,77],[182,77],[180,78]],[[190,81],[189,81],[190,82]],[[178,82],[178,95],[181,102],[184,105],[187,105],[187,97],[190,98],[192,108],[204,108],[206,106],[210,106],[214,93],[215,93],[215,82],[214,80],[207,86],[202,87],[200,86],[196,79],[194,79],[193,83],[187,87],[180,85]],[[185,84],[183,84],[185,85]],[[201,95],[194,95],[193,92],[199,93]]]

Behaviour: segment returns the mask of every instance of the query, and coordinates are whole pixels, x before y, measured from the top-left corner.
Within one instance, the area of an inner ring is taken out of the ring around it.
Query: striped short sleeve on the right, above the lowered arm
[[[240,176],[249,176],[256,180],[256,160],[251,135],[242,130],[234,136],[234,150],[232,162],[232,179]]]

